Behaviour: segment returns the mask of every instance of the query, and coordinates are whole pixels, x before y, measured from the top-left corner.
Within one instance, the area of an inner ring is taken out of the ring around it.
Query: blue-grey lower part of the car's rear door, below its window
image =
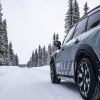
[[[65,45],[65,51],[63,53],[62,59],[64,60],[64,71],[65,75],[73,76],[74,75],[74,59],[73,56],[75,55],[77,47],[75,46],[75,39],[70,40]],[[74,49],[73,49],[74,48]]]

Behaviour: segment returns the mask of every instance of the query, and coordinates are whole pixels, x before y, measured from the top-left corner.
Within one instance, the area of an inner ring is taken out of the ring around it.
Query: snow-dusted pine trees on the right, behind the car
[[[68,1],[68,9],[65,14],[65,34],[67,35],[70,29],[75,25],[75,23],[80,18],[79,5],[77,0],[69,0]],[[84,15],[89,11],[89,7],[87,2],[83,7]],[[48,48],[41,47],[39,45],[38,49],[33,50],[32,56],[30,57],[26,66],[28,67],[36,67],[47,65],[50,62],[50,56],[57,50],[57,48],[53,45],[54,41],[58,41],[59,36],[58,33],[53,35],[53,42],[48,45]]]

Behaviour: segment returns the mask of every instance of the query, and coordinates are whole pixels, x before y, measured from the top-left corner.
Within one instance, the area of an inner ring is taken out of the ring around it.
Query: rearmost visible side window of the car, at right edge
[[[89,17],[87,29],[94,28],[100,25],[100,11],[94,13]]]

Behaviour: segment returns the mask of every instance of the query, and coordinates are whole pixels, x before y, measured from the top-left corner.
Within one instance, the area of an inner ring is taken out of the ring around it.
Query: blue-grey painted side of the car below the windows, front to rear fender
[[[75,44],[76,40],[78,44]],[[100,26],[82,33],[76,38],[67,42],[60,50],[57,50],[52,56],[55,58],[56,71],[58,75],[73,76],[75,57],[81,45],[89,45],[100,59]],[[63,50],[64,49],[64,50]]]

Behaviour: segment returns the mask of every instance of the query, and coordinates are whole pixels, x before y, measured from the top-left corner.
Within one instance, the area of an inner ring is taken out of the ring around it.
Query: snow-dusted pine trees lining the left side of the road
[[[8,44],[7,22],[2,19],[3,13],[0,3],[0,66],[18,66],[18,56],[14,54],[12,43]]]

